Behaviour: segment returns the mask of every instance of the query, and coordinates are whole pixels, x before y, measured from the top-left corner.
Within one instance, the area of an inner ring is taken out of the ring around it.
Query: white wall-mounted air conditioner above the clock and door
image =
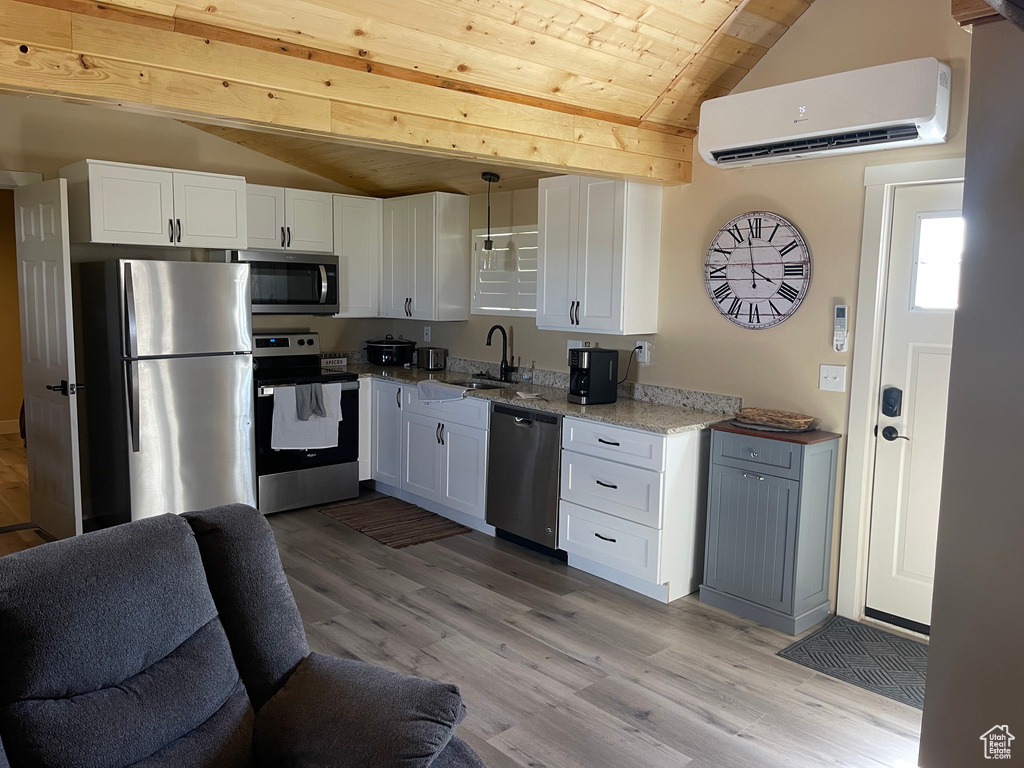
[[[700,106],[697,145],[720,168],[939,144],[949,67],[934,58],[734,93]]]

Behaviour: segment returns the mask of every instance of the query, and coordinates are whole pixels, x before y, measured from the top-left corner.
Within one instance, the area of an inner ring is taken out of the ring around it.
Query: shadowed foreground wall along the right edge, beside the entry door
[[[995,725],[1009,725],[1016,736],[1016,764],[1024,753],[1024,356],[1018,321],[1024,290],[1024,31],[1000,22],[979,26],[974,34],[967,243],[921,733],[920,764],[927,768],[990,765],[979,738]]]

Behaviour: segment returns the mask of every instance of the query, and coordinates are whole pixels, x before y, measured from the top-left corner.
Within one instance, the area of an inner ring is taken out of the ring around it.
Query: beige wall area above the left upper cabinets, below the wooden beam
[[[91,104],[0,96],[0,169],[36,171],[52,178],[60,167],[86,158],[231,173],[254,184],[354,191],[175,120]]]

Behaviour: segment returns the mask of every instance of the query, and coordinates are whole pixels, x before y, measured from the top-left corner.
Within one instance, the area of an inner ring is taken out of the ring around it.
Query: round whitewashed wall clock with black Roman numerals
[[[715,308],[741,328],[771,328],[797,311],[811,284],[811,254],[781,216],[753,211],[718,233],[705,259]]]

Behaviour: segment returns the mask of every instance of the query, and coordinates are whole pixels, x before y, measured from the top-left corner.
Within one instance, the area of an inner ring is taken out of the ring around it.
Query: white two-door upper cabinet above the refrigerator
[[[84,160],[68,179],[74,243],[237,249],[246,246],[246,181]]]

